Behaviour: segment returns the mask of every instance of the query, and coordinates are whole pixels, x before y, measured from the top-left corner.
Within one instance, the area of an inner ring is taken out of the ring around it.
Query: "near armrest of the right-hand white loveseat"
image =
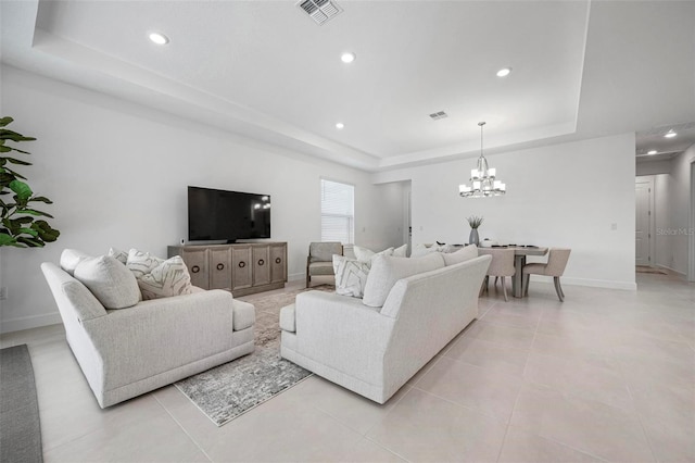
[[[296,297],[298,351],[370,384],[383,377],[382,359],[393,324],[393,318],[356,298],[324,291]]]

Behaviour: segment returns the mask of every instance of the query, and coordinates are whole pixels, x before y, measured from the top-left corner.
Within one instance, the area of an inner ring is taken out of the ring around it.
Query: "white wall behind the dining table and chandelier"
[[[466,217],[483,215],[481,239],[571,248],[564,283],[635,289],[634,146],[634,134],[624,134],[489,155],[507,184],[497,198],[458,196],[475,159],[376,179],[412,179],[414,243],[467,242]]]

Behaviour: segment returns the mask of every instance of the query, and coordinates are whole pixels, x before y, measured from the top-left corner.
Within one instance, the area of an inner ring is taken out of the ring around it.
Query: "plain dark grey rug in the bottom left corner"
[[[42,462],[41,424],[26,345],[0,349],[0,461]]]

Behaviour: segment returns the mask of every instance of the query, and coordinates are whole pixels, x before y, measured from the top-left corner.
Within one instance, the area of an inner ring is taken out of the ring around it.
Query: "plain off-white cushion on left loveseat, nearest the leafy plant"
[[[138,281],[115,258],[83,259],[75,268],[80,280],[105,309],[125,309],[140,301]]]

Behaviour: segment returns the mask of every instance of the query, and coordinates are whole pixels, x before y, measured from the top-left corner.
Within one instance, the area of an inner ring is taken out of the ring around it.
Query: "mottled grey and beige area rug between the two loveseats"
[[[256,308],[253,353],[182,379],[176,387],[213,423],[223,426],[311,376],[311,372],[280,358],[278,324],[280,309],[307,290],[333,291],[334,287],[320,285],[261,298],[239,298]]]

